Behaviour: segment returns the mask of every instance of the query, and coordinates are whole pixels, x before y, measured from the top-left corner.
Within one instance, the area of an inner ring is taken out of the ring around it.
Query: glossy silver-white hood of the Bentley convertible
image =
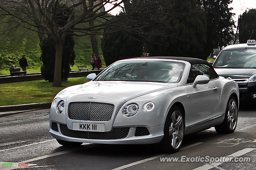
[[[126,81],[90,81],[84,84],[71,86],[58,93],[60,98],[72,98],[85,96],[104,96],[131,100],[133,98],[177,87],[177,83],[158,83],[158,82],[126,82]]]

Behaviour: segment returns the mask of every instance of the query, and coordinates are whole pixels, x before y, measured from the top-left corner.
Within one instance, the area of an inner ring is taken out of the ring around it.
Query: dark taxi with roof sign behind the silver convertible
[[[214,61],[215,71],[238,83],[240,100],[256,101],[256,41],[228,45]]]

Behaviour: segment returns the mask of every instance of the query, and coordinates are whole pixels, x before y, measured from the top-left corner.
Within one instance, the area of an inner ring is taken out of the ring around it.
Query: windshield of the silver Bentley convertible
[[[178,82],[184,63],[120,61],[106,68],[94,81]]]

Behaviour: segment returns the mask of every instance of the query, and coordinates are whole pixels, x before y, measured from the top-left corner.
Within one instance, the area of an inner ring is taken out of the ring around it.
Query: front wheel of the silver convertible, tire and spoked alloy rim
[[[175,153],[184,139],[184,116],[179,107],[172,107],[164,123],[164,137],[160,142],[163,152]]]

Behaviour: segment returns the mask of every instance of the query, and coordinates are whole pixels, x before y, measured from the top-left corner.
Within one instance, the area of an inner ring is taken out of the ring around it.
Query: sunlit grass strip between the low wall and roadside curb
[[[52,82],[36,80],[0,85],[0,106],[51,102],[60,90],[87,82],[86,77],[68,78],[63,87],[53,87]]]

